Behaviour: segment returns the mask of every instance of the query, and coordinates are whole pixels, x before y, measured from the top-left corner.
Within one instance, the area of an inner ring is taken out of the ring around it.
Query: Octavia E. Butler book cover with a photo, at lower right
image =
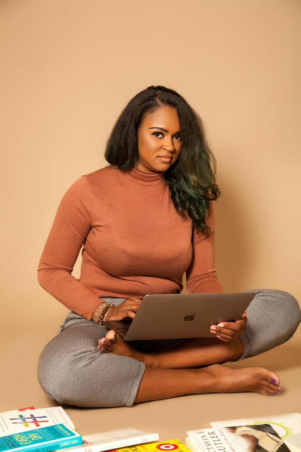
[[[290,452],[269,424],[204,428],[186,432],[194,452]]]

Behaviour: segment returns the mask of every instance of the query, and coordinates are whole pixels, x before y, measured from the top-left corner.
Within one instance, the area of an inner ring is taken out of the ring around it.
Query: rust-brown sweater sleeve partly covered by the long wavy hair
[[[210,202],[206,224],[211,228],[208,235],[193,230],[192,260],[186,270],[188,293],[224,292],[214,268],[214,229],[215,217],[213,202]]]

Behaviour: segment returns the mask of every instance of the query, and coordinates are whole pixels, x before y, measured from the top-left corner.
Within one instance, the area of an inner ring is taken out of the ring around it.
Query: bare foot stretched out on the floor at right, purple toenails
[[[232,369],[213,364],[202,367],[199,372],[202,375],[202,392],[258,392],[262,395],[281,392],[278,376],[263,367]]]

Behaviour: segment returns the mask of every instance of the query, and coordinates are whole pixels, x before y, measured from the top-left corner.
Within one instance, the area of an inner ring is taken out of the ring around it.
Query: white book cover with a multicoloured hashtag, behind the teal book
[[[6,411],[0,413],[0,437],[57,424],[67,424],[75,428],[61,406],[38,409],[29,407],[23,410]]]

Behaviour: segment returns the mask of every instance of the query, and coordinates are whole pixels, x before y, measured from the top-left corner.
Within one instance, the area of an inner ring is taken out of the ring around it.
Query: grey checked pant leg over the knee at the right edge
[[[290,293],[268,289],[245,292],[256,292],[256,295],[246,309],[248,321],[241,335],[245,352],[240,359],[284,344],[293,336],[301,321],[299,304]]]

